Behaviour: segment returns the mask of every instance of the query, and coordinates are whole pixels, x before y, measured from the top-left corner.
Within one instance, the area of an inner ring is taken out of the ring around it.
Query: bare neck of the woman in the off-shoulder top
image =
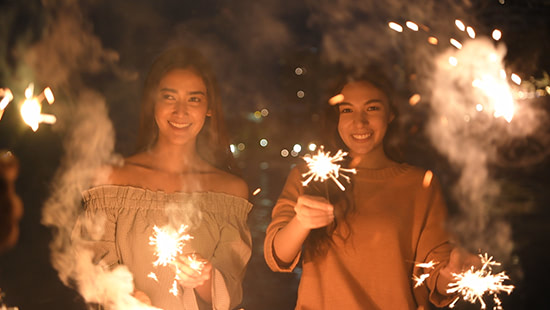
[[[148,153],[152,157],[151,160],[154,168],[170,173],[184,173],[197,170],[203,163],[194,143],[168,145],[159,141]]]

